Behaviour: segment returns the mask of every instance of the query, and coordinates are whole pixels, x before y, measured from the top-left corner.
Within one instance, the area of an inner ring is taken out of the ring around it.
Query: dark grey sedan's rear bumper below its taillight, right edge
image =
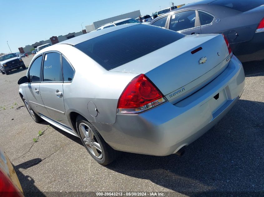
[[[255,33],[252,40],[230,44],[234,54],[241,62],[264,59],[264,32]]]

